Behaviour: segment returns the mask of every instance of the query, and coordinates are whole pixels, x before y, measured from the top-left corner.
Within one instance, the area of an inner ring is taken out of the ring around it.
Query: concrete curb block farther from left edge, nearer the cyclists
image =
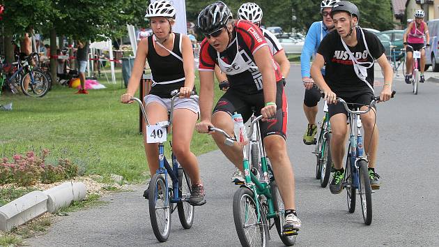
[[[84,200],[86,186],[82,182],[66,182],[43,191],[47,195],[47,211],[53,213],[61,207],[68,207],[73,201]]]

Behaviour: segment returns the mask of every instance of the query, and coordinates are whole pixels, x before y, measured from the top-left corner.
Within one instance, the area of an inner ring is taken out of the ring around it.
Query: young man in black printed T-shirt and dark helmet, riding
[[[387,101],[392,95],[393,71],[380,40],[375,34],[357,27],[360,11],[348,1],[335,3],[331,10],[332,20],[337,31],[328,33],[321,41],[316,58],[311,66],[314,82],[325,93],[332,130],[330,149],[334,163],[334,176],[330,184],[331,193],[343,190],[343,156],[346,140],[347,112],[337,96],[347,103],[364,105],[371,103],[373,91],[373,61],[376,59],[384,72],[384,87],[380,100]],[[359,37],[359,38],[357,38]],[[325,67],[325,77],[321,73]],[[375,172],[376,151],[378,149],[378,127],[375,110],[361,115],[364,127],[364,149],[369,154],[369,177],[371,188],[380,188],[379,176]]]

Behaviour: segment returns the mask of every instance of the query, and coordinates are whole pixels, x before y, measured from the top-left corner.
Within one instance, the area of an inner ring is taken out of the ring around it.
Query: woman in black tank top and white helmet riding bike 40
[[[151,68],[151,91],[144,98],[148,121],[155,124],[168,120],[171,105],[171,91],[180,91],[180,98],[174,103],[172,144],[180,165],[192,181],[190,203],[200,206],[204,200],[197,157],[190,151],[190,142],[195,123],[199,116],[198,96],[191,96],[194,89],[194,54],[190,38],[172,32],[176,10],[169,1],[151,3],[145,17],[150,20],[153,35],[139,42],[134,68],[126,93],[121,96],[122,103],[132,103],[130,98],[139,87],[146,59]],[[145,144],[146,158],[151,175],[158,169],[157,144]],[[148,199],[147,190],[144,196]]]

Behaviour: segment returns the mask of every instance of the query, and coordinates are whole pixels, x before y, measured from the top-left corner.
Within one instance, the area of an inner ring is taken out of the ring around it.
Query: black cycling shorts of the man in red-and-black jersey
[[[268,119],[268,121],[261,121],[261,136],[267,137],[268,135],[280,135],[286,140],[288,103],[286,102],[284,92],[284,82],[279,81],[276,83],[276,85],[276,116],[273,119]],[[231,116],[234,112],[238,112],[242,115],[244,122],[246,122],[252,116],[253,107],[256,111],[255,115],[259,116],[261,114],[261,109],[264,106],[265,101],[263,98],[263,91],[249,95],[245,92],[236,91],[229,88],[226,93],[219,98],[213,113],[221,111],[227,112]]]

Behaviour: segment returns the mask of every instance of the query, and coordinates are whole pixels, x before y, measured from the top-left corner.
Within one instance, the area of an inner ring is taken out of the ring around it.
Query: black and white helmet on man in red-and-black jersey
[[[225,27],[232,18],[230,8],[222,1],[216,1],[201,10],[198,15],[198,27],[202,33],[212,33]]]

